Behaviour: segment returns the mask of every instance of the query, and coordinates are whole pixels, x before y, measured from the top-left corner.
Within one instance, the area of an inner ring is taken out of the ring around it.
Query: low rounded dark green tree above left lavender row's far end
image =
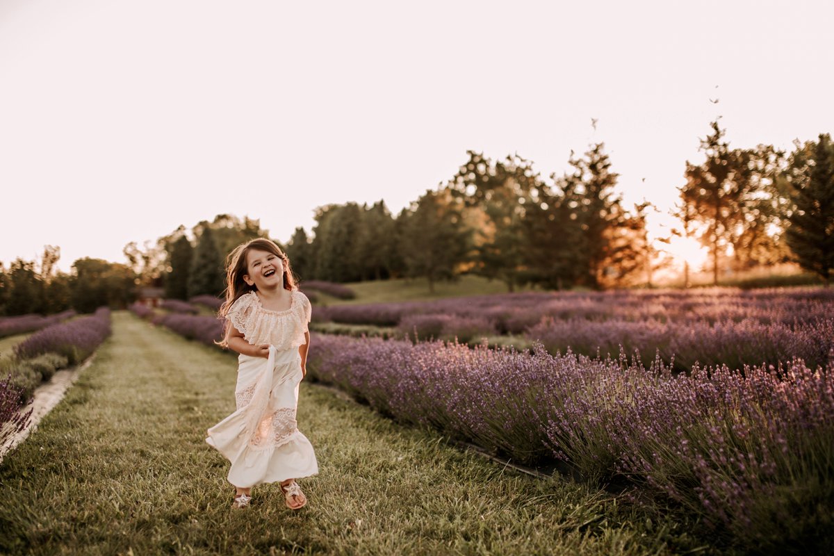
[[[104,305],[126,308],[136,298],[135,278],[133,270],[124,264],[79,258],[73,263],[69,284],[73,308],[79,313],[93,313]]]

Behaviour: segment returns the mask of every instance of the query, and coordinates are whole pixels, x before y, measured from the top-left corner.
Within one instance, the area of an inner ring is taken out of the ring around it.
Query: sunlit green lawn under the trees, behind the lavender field
[[[429,293],[429,282],[425,278],[396,278],[344,284],[356,292],[355,299],[337,299],[315,292],[323,304],[364,304],[388,303],[394,301],[429,301],[431,299],[458,298],[464,295],[485,295],[506,293],[507,287],[500,280],[487,280],[480,276],[465,274],[457,282],[435,282],[435,293]],[[301,283],[304,288],[304,283]],[[529,291],[530,288],[516,288],[515,291]]]

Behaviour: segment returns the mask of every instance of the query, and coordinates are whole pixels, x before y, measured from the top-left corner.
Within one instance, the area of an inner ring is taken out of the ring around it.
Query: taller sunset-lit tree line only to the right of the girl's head
[[[834,269],[834,147],[827,134],[795,143],[731,148],[718,121],[701,140],[704,159],[686,162],[671,233],[710,253],[714,283],[736,270],[796,261],[824,282]],[[570,172],[536,173],[517,155],[491,160],[468,152],[458,173],[394,216],[384,203],[332,204],[315,213],[310,237],[297,228],[286,246],[304,278],[353,282],[391,277],[440,279],[477,273],[512,291],[651,286],[670,262],[646,230],[654,206],[626,208],[603,143]],[[659,238],[661,242],[670,238]]]

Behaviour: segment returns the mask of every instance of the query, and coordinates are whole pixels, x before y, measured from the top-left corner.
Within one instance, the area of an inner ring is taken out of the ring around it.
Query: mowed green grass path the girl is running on
[[[315,346],[313,346],[313,349]],[[675,523],[563,478],[536,479],[302,383],[319,458],[292,512],[277,485],[230,508],[205,430],[234,408],[236,361],[113,314],[67,398],[0,464],[0,553],[655,554]]]

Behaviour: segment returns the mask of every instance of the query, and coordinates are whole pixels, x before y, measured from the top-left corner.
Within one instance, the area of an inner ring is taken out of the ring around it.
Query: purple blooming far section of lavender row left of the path
[[[21,359],[58,353],[74,365],[88,358],[109,335],[110,310],[98,308],[94,315],[43,328],[18,343],[14,353]]]

